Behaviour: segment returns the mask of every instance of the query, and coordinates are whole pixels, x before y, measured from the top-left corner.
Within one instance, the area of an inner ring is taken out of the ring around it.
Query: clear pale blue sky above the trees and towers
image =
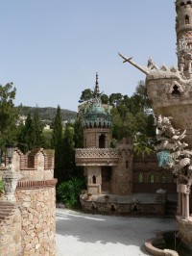
[[[106,94],[132,95],[145,76],[123,64],[177,64],[174,0],[0,1],[0,84],[15,105],[78,110],[95,74]]]

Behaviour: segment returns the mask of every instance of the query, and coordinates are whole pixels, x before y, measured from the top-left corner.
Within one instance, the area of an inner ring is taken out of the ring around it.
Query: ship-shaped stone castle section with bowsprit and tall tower
[[[186,130],[186,142],[192,148],[192,1],[176,1],[178,66],[160,66],[149,59],[146,66],[119,54],[146,74],[146,86],[156,115],[172,116],[177,129]]]

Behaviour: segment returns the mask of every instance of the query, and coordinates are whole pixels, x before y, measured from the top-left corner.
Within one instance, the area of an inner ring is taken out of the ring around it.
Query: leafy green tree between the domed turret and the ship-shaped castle
[[[112,93],[110,101],[116,100],[116,108],[111,114],[113,119],[112,136],[117,141],[131,137],[134,151],[151,151],[156,143],[156,129],[153,115],[146,115],[145,108],[150,108],[147,89],[143,81],[139,81],[131,97]]]

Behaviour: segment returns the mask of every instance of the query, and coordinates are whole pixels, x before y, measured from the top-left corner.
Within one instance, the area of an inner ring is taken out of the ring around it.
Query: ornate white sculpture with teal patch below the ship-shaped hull
[[[175,129],[171,123],[172,119],[171,116],[155,117],[158,166],[172,168],[173,173],[183,179],[183,183],[190,188],[192,151],[184,149],[188,146],[182,141],[186,137],[186,131],[180,133],[180,130]]]

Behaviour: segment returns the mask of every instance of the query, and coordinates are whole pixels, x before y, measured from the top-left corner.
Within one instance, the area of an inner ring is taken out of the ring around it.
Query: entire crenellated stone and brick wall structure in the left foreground
[[[16,202],[0,197],[0,255],[56,255],[56,184],[54,150],[35,149],[26,155],[15,149],[12,166],[22,177]],[[6,167],[0,168],[0,175]]]

